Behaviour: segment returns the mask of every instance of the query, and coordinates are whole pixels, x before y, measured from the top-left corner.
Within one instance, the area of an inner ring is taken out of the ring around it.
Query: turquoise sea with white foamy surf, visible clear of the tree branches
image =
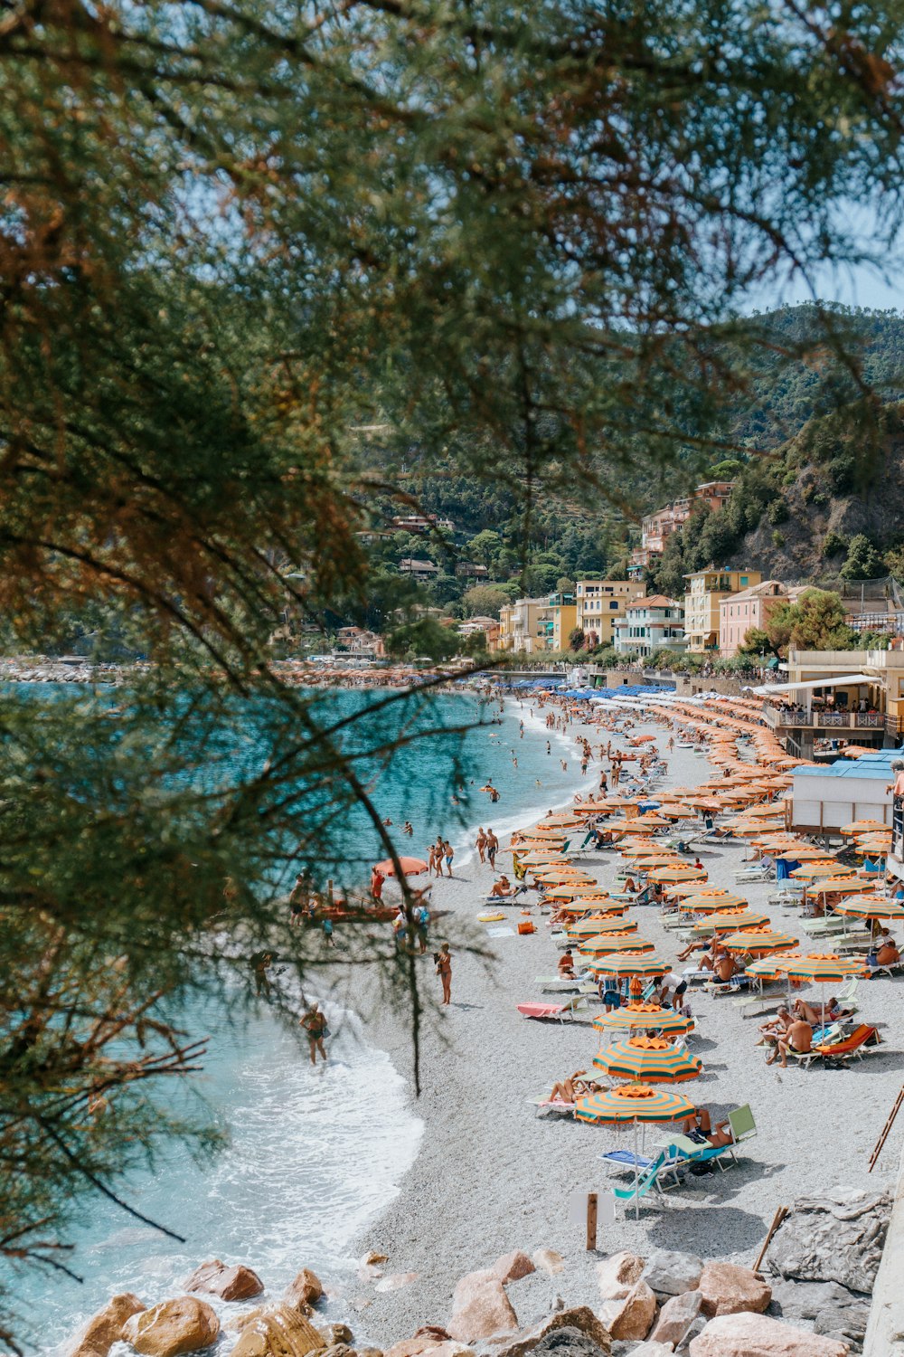
[[[350,691],[329,702],[339,714],[356,714],[379,697]],[[442,832],[455,844],[461,868],[473,855],[478,824],[501,839],[571,802],[579,784],[573,746],[548,734],[543,719],[545,712],[514,697],[438,695],[422,704],[417,738],[371,779],[400,852],[422,856]],[[457,786],[450,788],[453,768]],[[488,779],[500,794],[492,806],[480,791]],[[415,828],[411,839],[401,833],[405,820]],[[363,817],[352,818],[348,832],[362,862],[369,851],[382,856]],[[173,1143],[153,1171],[115,1185],[184,1244],[100,1196],[85,1197],[66,1236],[73,1246],[66,1265],[81,1281],[34,1269],[3,1280],[28,1350],[61,1357],[114,1292],[131,1291],[145,1303],[163,1299],[210,1258],[249,1263],[274,1295],[302,1266],[328,1282],[336,1303],[354,1295],[355,1240],[397,1194],[417,1156],[422,1122],[408,1082],[354,1015],[335,1015],[342,1020],[335,1022],[329,1063],[313,1069],[295,1034],[266,1012],[232,1025],[210,1003],[192,1000],[184,1012],[184,1027],[209,1037],[209,1053],[194,1084],[178,1096],[206,1101],[228,1133],[225,1148],[198,1160]]]

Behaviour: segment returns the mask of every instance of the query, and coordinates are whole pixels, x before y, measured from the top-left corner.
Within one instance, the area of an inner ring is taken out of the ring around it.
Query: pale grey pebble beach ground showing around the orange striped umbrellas
[[[539,738],[542,719],[534,716],[526,723],[529,738]],[[568,734],[576,737],[584,729],[596,744],[599,734],[592,727],[572,723]],[[659,735],[661,730],[659,723],[641,723],[632,733]],[[614,740],[614,746],[625,748],[625,738]],[[668,763],[661,787],[698,784],[713,775],[707,759],[691,749],[676,748]],[[579,760],[573,767],[579,775]],[[594,760],[590,773],[598,772]],[[576,776],[576,790],[579,786]],[[709,885],[735,887],[733,871],[744,854],[744,844],[737,841],[703,845],[701,859]],[[697,1033],[690,1049],[702,1057],[703,1075],[683,1091],[707,1106],[713,1120],[749,1103],[758,1134],[739,1155],[739,1167],[690,1178],[664,1204],[646,1198],[640,1221],[619,1212],[615,1225],[600,1231],[599,1253],[587,1253],[583,1228],[568,1219],[569,1194],[603,1189],[607,1175],[598,1156],[626,1145],[628,1137],[607,1126],[537,1115],[529,1099],[548,1092],[554,1080],[573,1069],[590,1067],[598,1049],[590,1018],[599,1010],[592,1007],[581,1015],[585,1022],[565,1025],[533,1022],[518,1014],[519,1001],[541,997],[534,977],[554,972],[557,943],[537,909],[537,934],[491,939],[477,915],[484,909],[493,873],[476,856],[465,862],[459,855],[457,863],[454,879],[435,883],[434,908],[454,916],[450,932],[466,931],[489,947],[495,959],[488,963],[458,953],[451,1007],[431,1012],[424,1023],[422,1096],[412,1098],[412,1110],[424,1122],[420,1152],[396,1201],[361,1240],[362,1254],[374,1250],[388,1255],[386,1274],[415,1276],[385,1291],[377,1289],[373,1278],[362,1280],[344,1297],[346,1305],[358,1312],[359,1339],[366,1334],[384,1346],[413,1334],[420,1324],[446,1322],[457,1278],[511,1248],[556,1250],[564,1259],[556,1289],[569,1303],[596,1303],[594,1265],[604,1254],[621,1248],[649,1254],[664,1247],[751,1265],[777,1206],[834,1183],[878,1189],[892,1181],[904,1120],[871,1175],[867,1158],[900,1087],[903,984],[888,978],[861,984],[858,1016],[876,1023],[886,1045],[843,1069],[767,1067],[764,1050],[755,1045],[763,1018],[745,1019],[731,997],[694,993]],[[511,858],[501,856],[499,863],[506,870]],[[622,859],[618,854],[594,852],[581,863],[609,885]],[[800,936],[805,950],[829,950],[800,931],[797,909],[767,904],[774,886],[745,883],[737,890],[752,909],[767,913],[774,927]],[[531,894],[527,901],[535,898]],[[518,908],[507,913],[514,924],[522,917]],[[659,954],[675,959],[679,943],[674,932],[663,928],[659,909],[636,908],[630,917]],[[440,921],[435,940],[443,935],[442,928]],[[430,953],[423,968],[426,984],[438,992]],[[802,993],[823,997],[819,987]],[[411,1035],[405,1023],[385,1008],[369,1011],[366,1018],[369,1038],[409,1076]],[[656,1132],[648,1132],[652,1140]]]

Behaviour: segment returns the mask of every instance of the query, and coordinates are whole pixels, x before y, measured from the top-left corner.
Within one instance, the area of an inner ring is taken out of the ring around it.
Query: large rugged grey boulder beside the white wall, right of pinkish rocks
[[[768,1246],[768,1267],[777,1277],[871,1292],[889,1212],[888,1194],[859,1187],[800,1198]]]

